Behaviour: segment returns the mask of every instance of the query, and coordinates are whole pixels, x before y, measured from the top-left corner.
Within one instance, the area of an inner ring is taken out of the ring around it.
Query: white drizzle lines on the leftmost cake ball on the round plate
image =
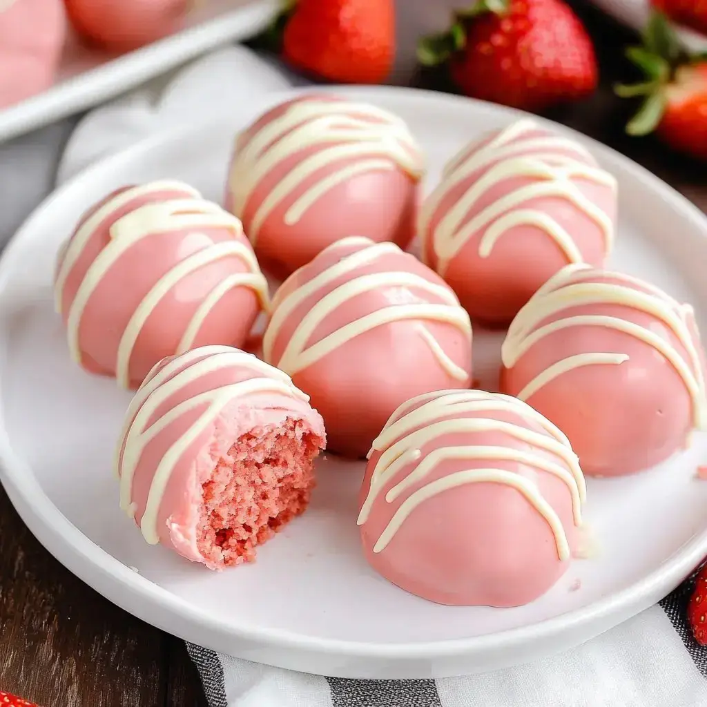
[[[228,214],[228,212],[221,209],[221,206],[201,198],[199,192],[182,184],[182,182],[151,182],[117,194],[116,197],[107,201],[94,214],[89,216],[77,230],[74,238],[70,240],[68,247],[63,252],[63,258],[57,271],[54,291],[57,311],[61,312],[62,309],[66,279],[69,277],[71,269],[81,258],[81,254],[90,242],[91,235],[93,235],[95,229],[107,218],[110,218],[111,214],[115,214],[119,209],[134,201],[134,199],[160,192],[181,192],[182,194],[187,194],[187,196],[168,198],[163,201],[151,201],[137,206],[132,211],[118,218],[109,229],[110,243],[105,245],[103,250],[98,253],[83,276],[83,280],[78,286],[76,296],[69,308],[66,322],[69,351],[74,360],[81,361],[79,331],[83,312],[86,310],[91,296],[107,272],[136,243],[153,235],[168,233],[171,230],[183,231],[191,229],[195,233],[199,233],[200,228],[218,227],[228,228],[233,233],[234,240],[225,240],[218,243],[211,242],[210,245],[177,262],[174,267],[156,281],[151,290],[144,296],[124,329],[117,350],[116,378],[122,387],[128,387],[130,384],[130,357],[148,317],[182,278],[199,268],[223,258],[237,257],[245,264],[247,269],[244,272],[233,274],[224,279],[206,296],[196,312],[194,312],[194,315],[192,315],[192,319],[189,321],[189,325],[175,353],[180,354],[188,349],[189,346],[192,346],[199,329],[204,324],[211,310],[214,309],[228,291],[237,287],[250,288],[259,298],[262,307],[265,310],[269,310],[267,281],[260,272],[255,255],[253,255],[247,243],[236,240],[236,238],[243,235],[243,228],[238,218]]]

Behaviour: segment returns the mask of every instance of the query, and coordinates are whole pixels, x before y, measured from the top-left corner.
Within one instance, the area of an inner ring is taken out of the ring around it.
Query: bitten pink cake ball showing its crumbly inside
[[[303,513],[322,418],[288,378],[230,346],[160,361],[136,392],[117,451],[120,506],[146,541],[211,569]]]

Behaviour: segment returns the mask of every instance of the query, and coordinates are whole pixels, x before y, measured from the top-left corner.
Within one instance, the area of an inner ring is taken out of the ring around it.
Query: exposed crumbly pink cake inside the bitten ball
[[[202,484],[197,545],[207,563],[253,561],[257,545],[303,513],[321,444],[306,423],[291,418],[235,440]]]

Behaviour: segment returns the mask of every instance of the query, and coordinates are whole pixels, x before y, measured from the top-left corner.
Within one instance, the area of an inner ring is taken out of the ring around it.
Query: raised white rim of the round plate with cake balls
[[[321,91],[347,95],[354,99],[368,100],[372,103],[376,102],[378,96],[393,95],[396,100],[433,101],[439,103],[440,107],[452,107],[452,110],[470,110],[472,112],[483,110],[487,115],[491,111],[492,113],[496,112],[501,117],[528,116],[525,112],[493,105],[485,101],[435,91],[390,86],[327,86],[315,88],[309,86],[294,88],[265,95],[257,103],[257,107],[258,110],[261,110],[262,106],[272,105],[280,100],[287,100],[294,95]],[[641,165],[634,163],[633,160],[621,155],[613,148],[571,128],[542,117],[532,116],[532,118],[540,124],[549,125],[555,130],[574,135],[583,142],[590,144],[592,150],[600,158],[607,156],[611,160],[616,160],[621,165],[621,168],[633,179],[642,182],[654,192],[660,192],[662,198],[669,202],[671,209],[679,211],[684,218],[695,221],[696,228],[701,228],[703,231],[702,237],[707,239],[707,217],[697,206],[692,204],[682,194],[679,194],[676,189],[660,180],[659,177],[653,175]],[[158,150],[160,147],[164,148],[167,144],[175,143],[180,139],[180,136],[199,134],[213,124],[226,124],[226,119],[222,117],[218,120],[205,120],[188,127],[170,129],[161,134],[148,136],[118,153],[98,160],[98,162],[71,177],[63,185],[55,189],[52,194],[49,194],[47,199],[34,209],[21,228],[13,235],[0,256],[0,303],[4,298],[8,278],[13,271],[13,264],[25,247],[25,234],[32,232],[35,220],[41,217],[42,211],[47,206],[62,199],[66,191],[74,189],[76,183],[90,179],[94,173],[113,170],[121,163],[131,161],[136,154]],[[0,377],[0,390],[2,384],[3,380]],[[42,486],[40,486],[39,481],[37,481],[30,465],[13,450],[4,424],[4,410],[1,407],[0,481],[4,484],[11,503],[16,508],[23,522],[28,525],[30,532],[33,532],[45,549],[69,571],[130,614],[146,621],[148,624],[158,625],[162,629],[175,633],[174,626],[160,626],[156,620],[157,614],[166,612],[165,615],[177,619],[177,623],[183,627],[177,631],[177,635],[187,641],[194,641],[202,645],[204,644],[204,636],[218,635],[228,640],[235,638],[243,641],[252,641],[263,648],[269,646],[319,654],[326,652],[329,655],[339,657],[360,659],[387,658],[396,661],[443,660],[452,657],[472,658],[479,653],[496,653],[509,648],[522,648],[522,646],[530,643],[554,641],[572,631],[587,629],[591,624],[600,623],[602,619],[606,622],[608,619],[610,625],[594,631],[592,636],[596,636],[598,633],[617,626],[622,621],[653,605],[657,601],[655,597],[662,598],[662,596],[670,592],[689,575],[699,561],[703,559],[703,556],[707,554],[706,522],[701,532],[696,532],[689,542],[677,549],[670,558],[641,578],[641,580],[638,580],[638,582],[601,600],[550,619],[544,619],[543,621],[513,629],[505,629],[496,633],[488,633],[483,636],[443,641],[419,643],[344,641],[333,638],[303,636],[286,629],[252,628],[242,626],[238,622],[233,621],[233,619],[219,621],[208,612],[205,612],[204,609],[174,595],[172,592],[132,571],[78,530],[59,508],[54,506],[54,503],[52,503],[43,491]],[[100,581],[95,576],[92,576],[96,569],[103,575]],[[105,580],[110,581],[106,583]],[[623,618],[616,621],[615,617],[617,616]],[[198,638],[195,637],[197,634]],[[223,643],[223,641],[221,642]],[[215,643],[215,641],[211,643]],[[573,641],[573,644],[576,643],[578,641]],[[208,648],[209,645],[206,647]],[[257,660],[261,660],[261,658],[263,657],[259,656]],[[264,662],[267,662],[267,660],[264,660]],[[347,674],[346,677],[352,676]]]

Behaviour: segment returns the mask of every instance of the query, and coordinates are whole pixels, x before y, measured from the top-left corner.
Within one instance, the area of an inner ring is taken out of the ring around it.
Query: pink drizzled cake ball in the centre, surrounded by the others
[[[263,356],[312,397],[329,450],[363,457],[399,404],[469,386],[472,327],[431,269],[395,243],[351,236],[277,291]]]

